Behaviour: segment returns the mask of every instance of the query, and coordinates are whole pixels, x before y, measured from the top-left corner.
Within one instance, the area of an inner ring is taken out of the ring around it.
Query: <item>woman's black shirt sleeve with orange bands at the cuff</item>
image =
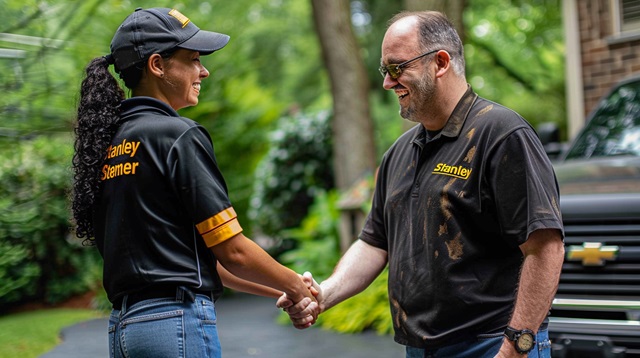
[[[167,161],[174,189],[207,247],[242,232],[216,162],[213,143],[203,127],[191,127],[184,132],[171,148]]]

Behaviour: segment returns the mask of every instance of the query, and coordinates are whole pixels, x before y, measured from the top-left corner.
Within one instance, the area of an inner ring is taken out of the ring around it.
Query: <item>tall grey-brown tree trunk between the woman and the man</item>
[[[375,168],[369,83],[351,27],[349,0],[312,0],[333,96],[335,182],[344,191]]]

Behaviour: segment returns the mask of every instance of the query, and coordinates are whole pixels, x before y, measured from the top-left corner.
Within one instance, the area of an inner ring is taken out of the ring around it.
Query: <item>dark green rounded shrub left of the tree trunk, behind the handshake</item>
[[[333,187],[328,112],[282,117],[254,175],[249,217],[256,230],[283,238],[297,227],[319,192]]]

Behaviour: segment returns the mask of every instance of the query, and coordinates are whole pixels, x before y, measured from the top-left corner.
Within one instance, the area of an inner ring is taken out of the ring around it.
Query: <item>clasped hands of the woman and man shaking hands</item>
[[[311,273],[305,272],[300,278],[316,300],[305,297],[299,302],[293,302],[286,293],[283,293],[282,296],[278,298],[276,307],[282,308],[289,314],[289,319],[291,319],[294,327],[297,329],[305,329],[316,323],[320,313],[324,312],[327,307],[324,303],[321,287],[313,279]]]

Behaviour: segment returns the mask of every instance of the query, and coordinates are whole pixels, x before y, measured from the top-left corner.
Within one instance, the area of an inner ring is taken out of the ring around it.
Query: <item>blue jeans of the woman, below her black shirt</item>
[[[220,358],[216,311],[210,297],[177,290],[174,298],[154,298],[109,317],[111,358]]]

